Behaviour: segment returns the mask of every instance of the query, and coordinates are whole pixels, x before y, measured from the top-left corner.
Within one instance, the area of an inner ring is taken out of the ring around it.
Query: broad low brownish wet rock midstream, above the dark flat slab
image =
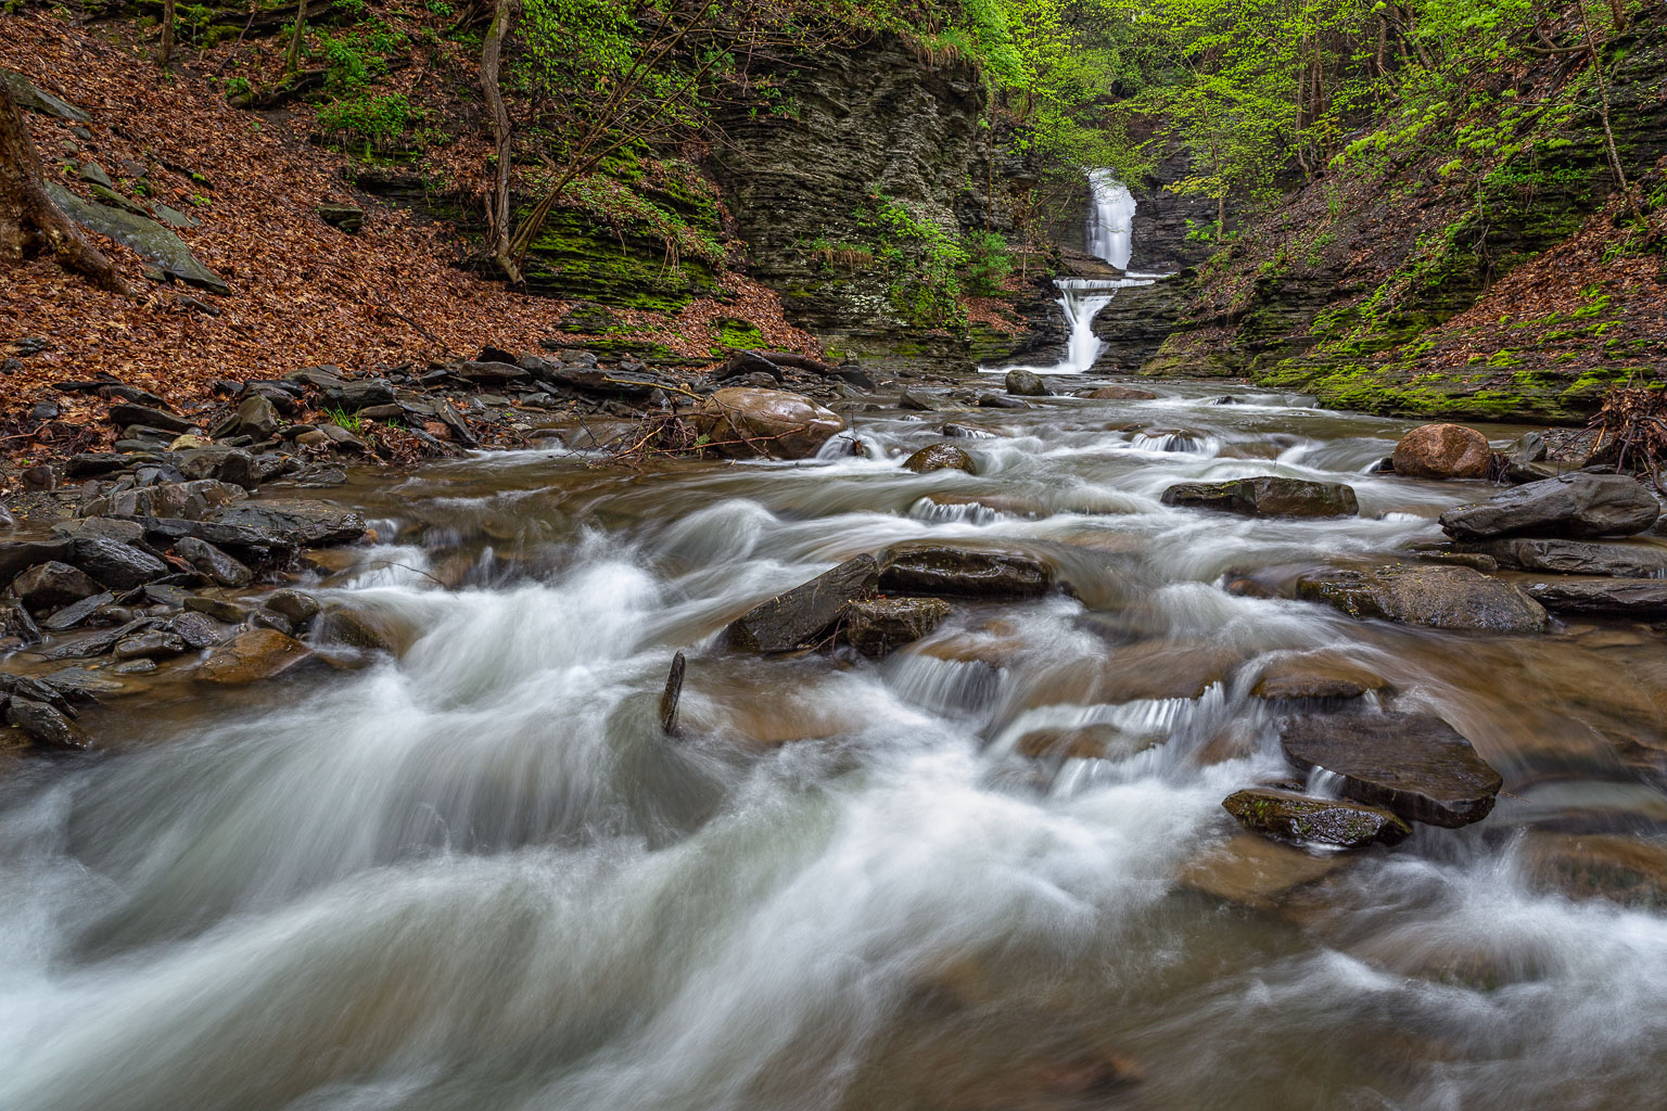
[[[1545,610],[1520,588],[1467,566],[1322,571],[1297,580],[1297,598],[1324,601],[1352,618],[1495,633],[1539,633]]]

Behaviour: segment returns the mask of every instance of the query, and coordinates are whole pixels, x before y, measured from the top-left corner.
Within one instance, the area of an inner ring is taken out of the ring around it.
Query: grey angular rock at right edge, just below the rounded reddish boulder
[[[1442,530],[1455,540],[1630,536],[1659,515],[1655,498],[1634,478],[1575,473],[1447,510]]]

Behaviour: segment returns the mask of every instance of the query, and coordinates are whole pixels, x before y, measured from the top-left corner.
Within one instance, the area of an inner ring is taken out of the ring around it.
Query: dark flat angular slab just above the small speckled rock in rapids
[[[1280,726],[1285,758],[1342,776],[1344,795],[1407,821],[1467,826],[1494,810],[1504,785],[1470,741],[1434,715],[1345,713]]]

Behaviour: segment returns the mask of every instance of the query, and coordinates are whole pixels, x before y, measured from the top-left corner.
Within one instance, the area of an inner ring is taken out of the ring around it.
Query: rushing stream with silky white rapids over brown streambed
[[[1662,635],[1227,593],[1404,556],[1489,488],[1365,473],[1404,425],[1160,388],[959,413],[977,475],[904,470],[944,418],[885,410],[867,458],[525,451],[335,491],[383,540],[317,590],[397,658],[162,681],[0,773],[0,1108],[1659,1106],[1664,908],[1547,866],[1659,859]],[[1159,501],[1262,473],[1362,516]],[[1077,596],[957,603],[879,663],[718,646],[904,540],[1035,551]],[[1250,686],[1314,651],[1460,728],[1494,815],[1352,854],[1242,834],[1220,800],[1290,775]],[[1084,730],[1094,756],[1024,755]]]

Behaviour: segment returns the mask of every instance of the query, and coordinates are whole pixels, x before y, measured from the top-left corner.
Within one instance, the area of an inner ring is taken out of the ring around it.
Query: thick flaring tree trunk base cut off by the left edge
[[[40,253],[52,255],[65,270],[87,275],[98,288],[128,291],[103,252],[52,203],[23,113],[0,83],[0,267],[15,267]]]

